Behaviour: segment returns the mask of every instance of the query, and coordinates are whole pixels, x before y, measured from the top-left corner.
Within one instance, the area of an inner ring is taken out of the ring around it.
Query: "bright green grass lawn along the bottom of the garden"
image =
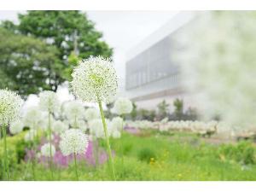
[[[251,143],[213,145],[190,134],[154,132],[111,139],[118,180],[224,181],[256,180],[255,150]],[[100,143],[104,147],[104,142]],[[124,147],[122,153],[121,147]],[[122,159],[122,154],[124,154]],[[251,160],[251,161],[250,161]],[[12,179],[32,180],[32,165],[12,167]],[[75,180],[73,166],[55,168],[55,180]],[[37,180],[50,180],[49,169],[35,167]],[[97,168],[79,162],[79,180],[111,180],[108,163]]]

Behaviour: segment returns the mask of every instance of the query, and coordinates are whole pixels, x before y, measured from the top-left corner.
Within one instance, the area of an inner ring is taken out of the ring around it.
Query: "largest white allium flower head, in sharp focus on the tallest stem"
[[[101,56],[79,62],[72,73],[75,96],[84,102],[112,102],[117,91],[117,75],[113,63]]]

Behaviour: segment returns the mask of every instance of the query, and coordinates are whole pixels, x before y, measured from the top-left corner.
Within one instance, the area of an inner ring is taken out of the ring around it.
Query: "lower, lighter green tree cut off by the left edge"
[[[56,55],[54,46],[0,27],[0,88],[18,90],[22,96],[54,90],[61,69]]]

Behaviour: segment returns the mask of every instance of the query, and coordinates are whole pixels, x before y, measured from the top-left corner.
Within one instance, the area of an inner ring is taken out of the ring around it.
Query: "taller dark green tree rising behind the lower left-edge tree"
[[[108,44],[102,41],[102,33],[96,31],[95,24],[81,11],[27,11],[19,15],[19,20],[18,30],[22,34],[43,38],[47,44],[59,49],[64,79],[70,80],[77,64],[67,61],[70,55],[88,58],[90,55],[109,57],[113,54]],[[7,26],[14,28],[9,23]]]

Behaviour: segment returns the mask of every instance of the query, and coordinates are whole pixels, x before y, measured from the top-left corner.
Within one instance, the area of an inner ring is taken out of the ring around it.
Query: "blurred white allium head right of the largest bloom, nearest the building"
[[[118,98],[113,105],[113,112],[118,114],[131,113],[132,103],[127,98]]]

